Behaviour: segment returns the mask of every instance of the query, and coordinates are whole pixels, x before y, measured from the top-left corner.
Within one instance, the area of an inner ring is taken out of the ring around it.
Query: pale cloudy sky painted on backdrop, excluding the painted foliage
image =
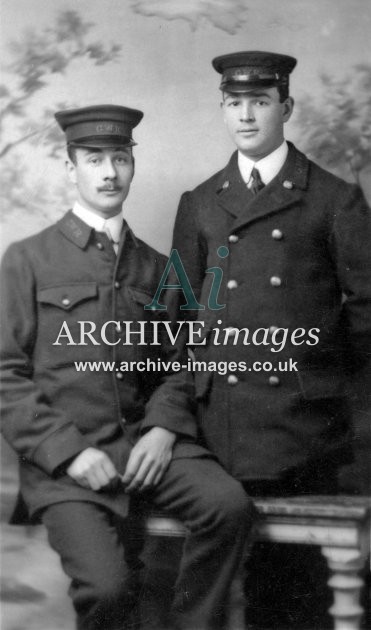
[[[233,149],[221,121],[213,57],[248,49],[294,55],[299,62],[291,85],[298,99],[316,98],[321,72],[346,77],[370,58],[369,0],[1,0],[1,58],[9,59],[7,42],[21,42],[24,29],[53,24],[63,9],[94,23],[96,40],[120,44],[121,57],[109,66],[75,63],[35,99],[33,115],[57,102],[143,109],[126,212],[136,231],[163,251],[182,191],[221,168]],[[300,148],[295,116],[287,137]],[[29,161],[35,202],[40,178],[53,186],[64,173],[52,159]],[[25,216],[19,225],[14,216],[21,236],[42,223]],[[14,233],[12,221],[5,241]]]

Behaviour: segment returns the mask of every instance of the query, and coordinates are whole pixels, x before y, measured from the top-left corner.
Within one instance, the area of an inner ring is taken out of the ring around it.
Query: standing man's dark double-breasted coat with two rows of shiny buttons
[[[221,246],[227,256],[218,254]],[[370,211],[360,189],[290,145],[280,173],[254,197],[235,153],[182,196],[173,247],[206,307],[185,315],[204,323],[196,359],[247,365],[195,371],[208,447],[244,480],[275,479],[321,459],[347,461],[350,383],[363,372],[370,385]],[[219,310],[207,307],[215,267],[223,270]],[[233,336],[216,345],[215,329],[229,327],[248,328],[250,345],[243,334],[236,345]],[[254,331],[275,327],[305,333],[279,352],[262,342],[263,332],[251,343]],[[315,328],[319,342],[307,343]],[[290,359],[298,371],[280,371]],[[271,362],[272,370],[250,371],[255,361]],[[369,420],[363,426],[369,439]]]

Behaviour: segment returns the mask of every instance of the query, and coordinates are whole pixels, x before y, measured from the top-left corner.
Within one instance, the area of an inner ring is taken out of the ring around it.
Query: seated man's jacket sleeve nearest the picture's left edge
[[[33,363],[42,331],[32,263],[20,243],[4,254],[1,294],[1,430],[21,458],[51,475],[89,444],[38,387],[38,370],[47,366]]]

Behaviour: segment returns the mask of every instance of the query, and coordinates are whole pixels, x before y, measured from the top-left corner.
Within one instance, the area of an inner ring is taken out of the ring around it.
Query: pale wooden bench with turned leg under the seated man
[[[318,545],[330,570],[335,630],[359,630],[363,609],[359,572],[370,553],[371,497],[298,496],[256,499],[260,518],[255,540]],[[184,537],[186,528],[166,515],[146,521],[151,536]],[[229,630],[244,630],[243,571],[231,588]]]

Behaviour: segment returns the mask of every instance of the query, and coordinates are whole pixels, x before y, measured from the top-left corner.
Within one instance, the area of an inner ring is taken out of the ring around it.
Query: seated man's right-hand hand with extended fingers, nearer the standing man
[[[140,438],[121,478],[125,492],[147,490],[159,483],[171,462],[175,440],[175,433],[162,427],[153,427]]]

